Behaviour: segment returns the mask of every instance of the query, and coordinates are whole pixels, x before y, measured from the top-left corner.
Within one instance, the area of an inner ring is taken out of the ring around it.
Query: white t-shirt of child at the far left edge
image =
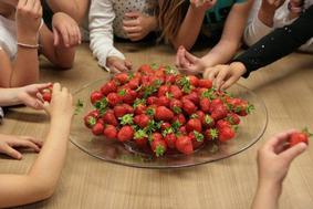
[[[2,15],[0,15],[0,46],[11,60],[15,58],[18,53],[15,22]]]

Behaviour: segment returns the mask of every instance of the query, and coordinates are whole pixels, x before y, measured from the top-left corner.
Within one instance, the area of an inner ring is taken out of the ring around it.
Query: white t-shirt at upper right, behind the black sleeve
[[[260,39],[272,32],[274,29],[282,28],[284,25],[291,24],[294,20],[290,20],[290,11],[288,9],[286,0],[277,11],[273,19],[273,27],[270,28],[261,22],[258,18],[258,13],[262,3],[262,0],[255,0],[251,9],[250,17],[244,31],[244,42],[248,45],[252,45],[258,42]],[[304,8],[307,9],[313,4],[313,0],[305,0]],[[299,50],[304,52],[313,52],[313,38],[310,39],[305,44],[303,44]]]

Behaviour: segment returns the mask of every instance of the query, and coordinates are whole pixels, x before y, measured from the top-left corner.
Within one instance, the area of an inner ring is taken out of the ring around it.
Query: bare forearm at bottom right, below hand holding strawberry
[[[259,182],[251,209],[278,209],[282,185]]]

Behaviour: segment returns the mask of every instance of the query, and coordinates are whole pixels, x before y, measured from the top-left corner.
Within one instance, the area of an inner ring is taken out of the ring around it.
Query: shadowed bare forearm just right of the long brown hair
[[[176,38],[171,41],[171,44],[177,50],[180,45],[184,45],[187,50],[190,50],[197,41],[204,22],[206,10],[196,9],[189,6],[188,12],[180,25],[180,29]]]

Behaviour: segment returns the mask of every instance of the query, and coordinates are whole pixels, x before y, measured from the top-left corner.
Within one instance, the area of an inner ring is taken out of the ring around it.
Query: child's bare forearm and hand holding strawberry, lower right
[[[259,182],[252,209],[277,209],[282,184],[291,161],[306,149],[306,144],[300,143],[284,149],[289,136],[294,130],[278,134],[259,150]]]

